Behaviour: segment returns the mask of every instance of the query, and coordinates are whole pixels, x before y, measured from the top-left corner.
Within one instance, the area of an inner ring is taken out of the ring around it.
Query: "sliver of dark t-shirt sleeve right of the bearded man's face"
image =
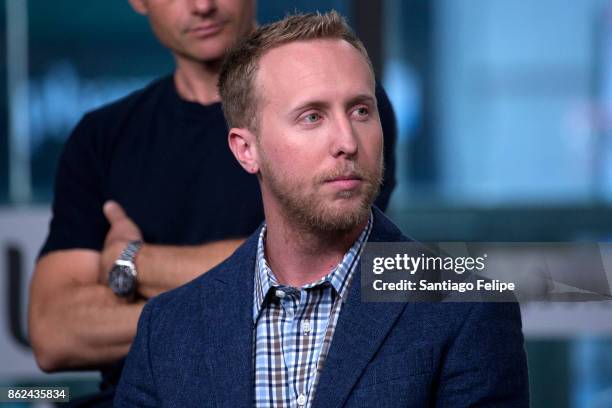
[[[380,115],[380,123],[382,124],[384,135],[384,160],[385,173],[383,175],[383,184],[380,189],[380,194],[376,199],[376,206],[385,211],[391,199],[391,193],[395,189],[395,144],[397,140],[397,124],[395,121],[395,112],[393,106],[383,89],[382,85],[376,83],[376,99],[378,103],[378,114]]]

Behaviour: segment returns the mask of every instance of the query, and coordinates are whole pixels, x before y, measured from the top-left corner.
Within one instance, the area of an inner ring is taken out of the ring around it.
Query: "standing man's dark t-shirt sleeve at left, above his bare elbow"
[[[39,257],[62,249],[100,250],[109,225],[102,212],[104,166],[95,121],[86,115],[60,156],[49,235]]]

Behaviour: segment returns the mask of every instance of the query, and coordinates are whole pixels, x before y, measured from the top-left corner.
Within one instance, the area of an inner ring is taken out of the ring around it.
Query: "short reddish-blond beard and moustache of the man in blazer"
[[[320,186],[325,180],[335,178],[347,172],[352,172],[362,179],[361,191],[341,191],[339,198],[348,199],[352,195],[362,194],[362,199],[358,205],[351,210],[345,208],[331,208],[326,205],[315,194],[304,191],[305,183],[310,183],[307,179],[289,180],[283,175],[275,174],[267,160],[262,160],[262,177],[267,181],[270,191],[281,204],[283,215],[295,227],[304,232],[316,234],[344,234],[351,232],[360,224],[365,224],[374,200],[378,196],[382,183],[384,165],[381,164],[376,172],[365,172],[357,168],[355,162],[347,162],[341,168],[332,172],[317,176],[314,185]]]

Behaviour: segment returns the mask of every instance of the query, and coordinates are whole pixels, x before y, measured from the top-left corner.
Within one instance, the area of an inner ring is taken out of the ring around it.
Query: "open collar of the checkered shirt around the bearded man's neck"
[[[309,289],[318,285],[322,285],[325,282],[329,282],[334,288],[336,293],[341,299],[344,299],[348,294],[348,286],[352,277],[352,272],[355,270],[364,243],[367,242],[370,231],[372,230],[373,216],[370,212],[368,224],[363,229],[355,243],[349,248],[344,254],[342,261],[336,265],[327,275],[317,280],[302,286],[300,289]],[[257,321],[266,295],[270,289],[283,287],[276,280],[276,276],[272,269],[270,269],[265,256],[265,240],[266,240],[266,224],[264,223],[259,233],[259,240],[257,242],[257,260],[255,262],[255,298],[253,305],[253,321]],[[285,286],[286,287],[286,286]]]

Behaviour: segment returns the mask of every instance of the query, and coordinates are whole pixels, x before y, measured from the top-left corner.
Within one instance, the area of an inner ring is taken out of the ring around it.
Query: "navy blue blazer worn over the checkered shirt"
[[[258,234],[213,270],[147,303],[116,406],[253,406]],[[374,210],[369,241],[407,240]],[[516,303],[366,303],[355,273],[313,408],[529,406]]]

